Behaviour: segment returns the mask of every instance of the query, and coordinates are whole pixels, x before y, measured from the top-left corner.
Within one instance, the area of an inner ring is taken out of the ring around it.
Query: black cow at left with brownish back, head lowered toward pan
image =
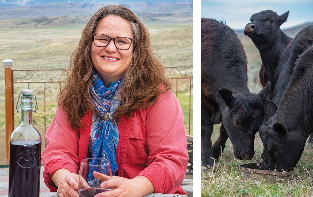
[[[201,18],[203,166],[213,165],[228,137],[238,159],[253,158],[255,133],[264,116],[264,93],[250,93],[247,81],[246,55],[237,35],[223,22]],[[220,136],[212,146],[213,124],[221,122]]]

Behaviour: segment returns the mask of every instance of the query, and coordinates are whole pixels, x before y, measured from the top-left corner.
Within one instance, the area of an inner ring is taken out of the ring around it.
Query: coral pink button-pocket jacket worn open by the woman
[[[87,126],[72,129],[67,115],[57,108],[47,130],[42,159],[44,182],[50,191],[57,190],[51,180],[55,171],[66,168],[78,174],[81,161],[87,158],[92,115],[86,113],[82,119]],[[143,175],[156,193],[186,195],[180,186],[188,164],[184,117],[172,91],[163,93],[155,104],[136,111],[130,119],[122,117],[118,128],[118,176],[132,179]]]

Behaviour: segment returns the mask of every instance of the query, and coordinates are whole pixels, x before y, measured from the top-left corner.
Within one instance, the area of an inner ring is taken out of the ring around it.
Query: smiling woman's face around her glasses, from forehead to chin
[[[100,19],[95,32],[116,37],[133,39],[131,23],[119,16],[109,15]],[[113,81],[121,78],[124,71],[133,59],[134,43],[128,50],[120,50],[115,47],[113,40],[105,47],[98,47],[94,43],[91,46],[91,62],[108,87]]]

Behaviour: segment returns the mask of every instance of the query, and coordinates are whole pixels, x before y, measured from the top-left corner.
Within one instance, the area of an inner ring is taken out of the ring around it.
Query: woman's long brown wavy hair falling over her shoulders
[[[70,58],[66,82],[59,93],[59,106],[67,114],[72,128],[85,125],[81,118],[87,110],[96,114],[90,94],[94,69],[90,59],[91,34],[99,20],[108,15],[129,21],[135,40],[133,61],[124,73],[121,104],[113,119],[119,120],[124,115],[129,118],[132,112],[156,103],[162,93],[171,89],[171,80],[165,76],[164,66],[151,48],[148,30],[138,16],[122,5],[105,6],[90,18],[83,29],[80,42]]]

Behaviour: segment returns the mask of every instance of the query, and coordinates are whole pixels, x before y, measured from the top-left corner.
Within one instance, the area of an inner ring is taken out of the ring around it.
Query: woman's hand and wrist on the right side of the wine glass
[[[150,180],[147,179],[145,176],[137,176],[134,179],[126,179],[119,176],[113,176],[111,180],[108,180],[106,175],[100,173],[94,172],[94,176],[97,179],[105,181],[100,185],[101,188],[113,188],[109,191],[97,194],[95,195],[95,197],[144,196],[146,194],[154,192],[153,185],[151,184]]]

